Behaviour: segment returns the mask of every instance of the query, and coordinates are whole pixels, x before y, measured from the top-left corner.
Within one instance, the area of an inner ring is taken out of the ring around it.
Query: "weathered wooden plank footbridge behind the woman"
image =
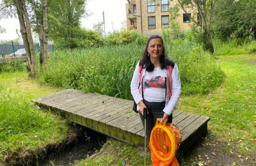
[[[74,89],[32,101],[41,107],[62,112],[72,122],[134,146],[144,146],[144,130],[139,115],[132,111],[133,101]],[[173,124],[183,133],[179,150],[187,151],[207,132],[209,120],[209,117],[174,111]]]

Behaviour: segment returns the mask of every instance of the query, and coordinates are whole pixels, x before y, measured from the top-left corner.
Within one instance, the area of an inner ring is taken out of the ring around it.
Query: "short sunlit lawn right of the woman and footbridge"
[[[218,57],[217,63],[226,74],[225,82],[207,95],[181,97],[181,109],[211,118],[209,130],[226,144],[243,140],[242,153],[255,152],[256,96],[255,55]]]

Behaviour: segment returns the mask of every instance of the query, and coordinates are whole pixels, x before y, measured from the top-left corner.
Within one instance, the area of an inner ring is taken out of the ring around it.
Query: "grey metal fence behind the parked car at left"
[[[19,41],[8,41],[8,40],[0,40],[0,53],[1,55],[9,55],[11,53],[16,52],[18,49],[24,49],[23,42]],[[54,51],[53,44],[48,44],[48,50]],[[35,43],[35,52],[40,52],[39,43]],[[0,55],[0,56],[1,56]]]

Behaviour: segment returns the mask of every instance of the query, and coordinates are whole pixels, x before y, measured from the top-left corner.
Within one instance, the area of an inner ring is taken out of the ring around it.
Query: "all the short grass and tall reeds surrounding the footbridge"
[[[181,41],[175,42],[167,45],[168,53],[175,62],[184,64],[179,69],[182,80],[188,83],[187,86],[183,84],[183,91],[187,93],[182,94],[178,109],[209,116],[211,121],[207,137],[224,142],[228,147],[225,151],[240,154],[255,152],[255,54],[222,55],[214,61],[196,45],[185,43],[182,46]],[[57,146],[68,137],[71,129],[67,121],[41,111],[30,102],[31,99],[65,88],[129,98],[131,74],[141,50],[134,45],[113,47],[56,51],[49,62],[52,65],[37,79],[27,78],[26,72],[16,71],[15,68],[16,72],[0,74],[0,164],[17,156],[22,158],[25,152],[40,156],[45,147]],[[113,58],[113,55],[116,57]],[[204,85],[194,82],[203,82]],[[207,85],[211,87],[204,90]],[[142,148],[109,139],[102,151],[72,165],[120,166],[123,160],[143,165],[143,156]],[[180,162],[180,165],[185,163]],[[148,162],[147,165],[151,164]]]

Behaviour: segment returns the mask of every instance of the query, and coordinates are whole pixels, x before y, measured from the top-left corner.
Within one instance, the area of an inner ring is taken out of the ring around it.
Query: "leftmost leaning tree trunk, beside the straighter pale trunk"
[[[14,0],[17,14],[19,18],[19,23],[21,27],[21,34],[23,38],[23,43],[27,53],[27,71],[30,77],[35,77],[38,73],[36,56],[35,56],[35,46],[31,34],[31,26],[28,19],[27,8],[24,0]]]

